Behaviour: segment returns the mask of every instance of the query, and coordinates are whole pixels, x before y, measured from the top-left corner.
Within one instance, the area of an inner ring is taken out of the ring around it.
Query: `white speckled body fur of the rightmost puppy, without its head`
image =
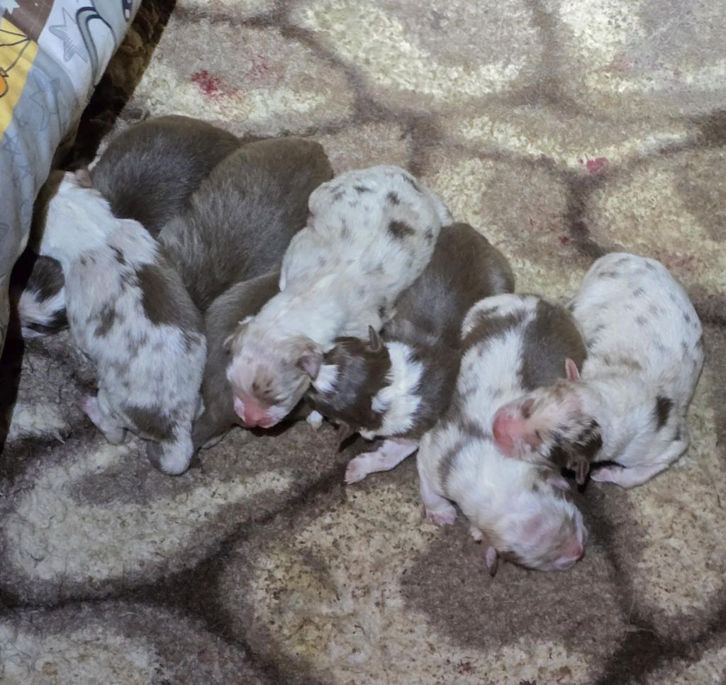
[[[603,277],[613,270],[617,277]],[[645,293],[635,296],[637,288]],[[698,344],[703,331],[688,295],[660,262],[613,253],[592,265],[573,304],[585,339],[593,343],[581,379],[603,398],[595,415],[603,426],[598,459],[644,474],[656,465],[666,468],[688,442],[677,441],[682,444],[674,451],[672,431],[656,431],[654,400],[661,395],[673,401],[671,417],[685,438],[685,413],[703,367]],[[637,317],[645,317],[647,325],[639,325]],[[600,325],[605,328],[595,333]],[[612,362],[618,355],[635,360],[641,370],[613,372],[605,359]]]

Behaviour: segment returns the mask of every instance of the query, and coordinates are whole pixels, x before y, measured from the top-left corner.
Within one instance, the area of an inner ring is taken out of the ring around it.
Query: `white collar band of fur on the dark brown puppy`
[[[391,359],[391,369],[386,376],[387,385],[375,394],[371,402],[373,411],[383,413],[383,420],[375,431],[360,431],[369,440],[377,435],[405,433],[413,426],[421,404],[416,389],[421,381],[423,364],[411,359],[412,349],[404,343],[390,342],[386,349]]]

